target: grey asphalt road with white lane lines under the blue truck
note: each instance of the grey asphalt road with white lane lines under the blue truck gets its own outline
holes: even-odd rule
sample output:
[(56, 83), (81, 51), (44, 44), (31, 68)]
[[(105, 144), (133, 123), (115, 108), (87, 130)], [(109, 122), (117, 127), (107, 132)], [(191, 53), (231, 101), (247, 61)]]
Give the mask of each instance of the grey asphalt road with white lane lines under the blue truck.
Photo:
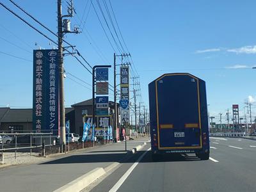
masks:
[(91, 186), (91, 191), (256, 191), (256, 141), (211, 138), (207, 161), (189, 154), (153, 162), (148, 148)]

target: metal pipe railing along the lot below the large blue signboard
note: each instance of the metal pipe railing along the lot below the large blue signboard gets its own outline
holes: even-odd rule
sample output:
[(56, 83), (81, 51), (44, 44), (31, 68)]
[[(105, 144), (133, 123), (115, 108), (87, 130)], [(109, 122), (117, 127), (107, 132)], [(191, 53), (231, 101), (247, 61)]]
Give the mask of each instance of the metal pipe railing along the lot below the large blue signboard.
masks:
[[(15, 159), (17, 159), (17, 151), (18, 150), (30, 149), (30, 156), (31, 156), (33, 148), (42, 148), (42, 156), (45, 156), (45, 147), (51, 147), (52, 145), (56, 145), (56, 138), (54, 138), (54, 136), (52, 136), (52, 132), (48, 132), (48, 133), (35, 133), (35, 132), (8, 133), (8, 132), (3, 132), (3, 133), (0, 133), (0, 136), (2, 136), (2, 140), (0, 143), (0, 145), (1, 145), (1, 148), (0, 148), (1, 159), (0, 160), (1, 160), (2, 164), (4, 164), (4, 152), (14, 150), (14, 152), (15, 152), (14, 157), (15, 157)], [(9, 138), (9, 140), (12, 140), (12, 142), (4, 143), (4, 138), (6, 138), (4, 136), (11, 136)], [(18, 136), (27, 136), (27, 137), (30, 136), (30, 138), (29, 138), (30, 143), (24, 142), (24, 141), (28, 141), (28, 138), (25, 138), (25, 139), (22, 138), (24, 140), (22, 142), (17, 141)], [(6, 146), (8, 148), (4, 148)], [(19, 146), (22, 146), (22, 147), (19, 147)]]

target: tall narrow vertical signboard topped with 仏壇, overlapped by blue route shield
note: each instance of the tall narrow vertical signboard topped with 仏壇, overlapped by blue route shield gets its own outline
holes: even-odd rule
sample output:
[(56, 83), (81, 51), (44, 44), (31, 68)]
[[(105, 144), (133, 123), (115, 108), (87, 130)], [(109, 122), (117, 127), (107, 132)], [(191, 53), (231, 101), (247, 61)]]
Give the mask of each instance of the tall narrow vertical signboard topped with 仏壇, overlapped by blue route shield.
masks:
[(129, 123), (129, 67), (120, 67), (120, 107), (121, 107), (121, 123)]

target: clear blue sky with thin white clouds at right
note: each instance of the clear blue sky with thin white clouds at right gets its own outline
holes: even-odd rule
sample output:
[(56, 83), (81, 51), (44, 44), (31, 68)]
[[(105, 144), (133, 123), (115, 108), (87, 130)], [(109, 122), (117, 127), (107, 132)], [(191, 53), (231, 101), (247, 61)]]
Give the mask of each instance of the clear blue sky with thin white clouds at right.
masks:
[[(206, 82), (209, 113), (216, 116), (216, 121), (219, 113), (223, 113), (225, 120), (225, 113), (232, 109), (232, 104), (239, 104), (240, 113), (244, 115), (247, 111), (244, 102), (255, 102), (256, 69), (252, 67), (256, 66), (256, 1), (110, 1), (132, 56), (131, 75), (140, 76), (140, 86), (136, 88), (141, 88), (138, 99), (142, 105), (148, 107), (148, 83), (172, 72), (188, 72)], [(10, 1), (1, 3), (56, 41), (56, 36), (29, 19)], [(15, 3), (56, 33), (56, 1), (15, 0)], [(92, 3), (115, 51), (100, 26)], [(113, 54), (118, 53), (118, 49), (97, 3), (96, 0), (74, 0), (76, 13), (70, 20), (72, 28), (79, 27), (81, 33), (67, 34), (65, 40), (76, 45), (90, 65), (113, 66)], [(108, 19), (104, 1), (99, 0), (99, 3)], [(109, 6), (109, 0), (106, 3)], [(64, 13), (67, 13), (65, 1)], [(49, 44), (49, 40), (3, 6), (0, 6), (0, 15), (0, 107), (31, 108), (33, 49), (52, 49), (54, 44)], [(115, 28), (117, 30), (116, 25)], [(118, 59), (117, 63), (120, 62)], [(90, 99), (91, 74), (72, 56), (65, 56), (64, 65), (67, 72), (65, 106)], [(113, 84), (113, 68), (109, 70), (109, 79)], [(113, 100), (113, 93), (109, 97)], [(253, 116), (255, 109), (252, 105)]]

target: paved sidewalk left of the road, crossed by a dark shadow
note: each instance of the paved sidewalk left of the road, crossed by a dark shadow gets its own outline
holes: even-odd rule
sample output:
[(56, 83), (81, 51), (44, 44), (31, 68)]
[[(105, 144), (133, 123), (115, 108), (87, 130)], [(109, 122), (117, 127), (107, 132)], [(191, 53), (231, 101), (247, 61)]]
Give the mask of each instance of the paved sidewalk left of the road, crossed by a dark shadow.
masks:
[[(127, 141), (127, 150), (148, 141)], [(0, 169), (0, 191), (54, 191), (95, 168), (122, 163), (127, 156), (125, 142), (86, 148), (47, 160), (44, 163)]]

